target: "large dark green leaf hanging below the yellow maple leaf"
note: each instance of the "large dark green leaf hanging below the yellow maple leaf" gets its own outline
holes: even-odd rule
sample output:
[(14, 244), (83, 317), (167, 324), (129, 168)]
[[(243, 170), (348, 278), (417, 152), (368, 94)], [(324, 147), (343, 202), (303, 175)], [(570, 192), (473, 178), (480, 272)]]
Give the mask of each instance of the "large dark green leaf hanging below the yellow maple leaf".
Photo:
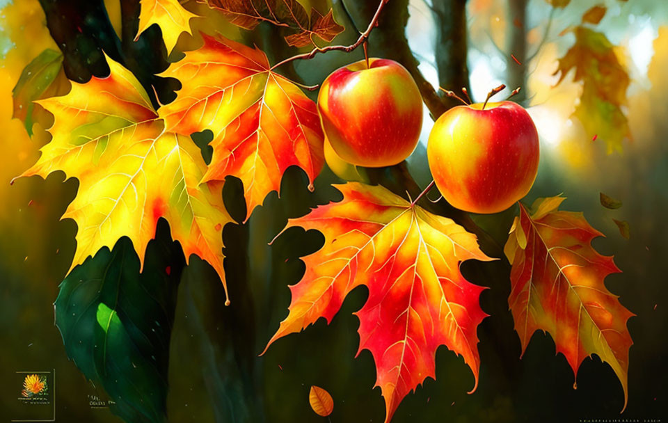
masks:
[(113, 413), (132, 423), (166, 422), (169, 342), (184, 257), (166, 225), (158, 232), (141, 273), (124, 237), (112, 251), (102, 248), (77, 266), (55, 303), (67, 356), (116, 401)]

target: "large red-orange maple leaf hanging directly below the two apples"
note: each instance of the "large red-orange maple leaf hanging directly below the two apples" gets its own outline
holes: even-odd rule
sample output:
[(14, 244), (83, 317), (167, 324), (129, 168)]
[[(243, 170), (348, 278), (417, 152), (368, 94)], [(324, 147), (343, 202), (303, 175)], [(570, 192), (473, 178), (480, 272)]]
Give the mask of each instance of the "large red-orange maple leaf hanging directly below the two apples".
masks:
[(356, 313), (359, 351), (368, 349), (374, 356), (385, 422), (408, 392), (427, 376), (436, 377), (440, 345), (463, 356), (477, 386), (476, 331), (486, 317), (479, 305), (484, 287), (464, 279), (459, 264), (492, 259), (475, 235), (382, 186), (349, 182), (336, 188), (343, 193), (341, 202), (317, 207), (286, 227), (317, 229), (325, 244), (303, 259), (306, 273), (290, 287), (289, 314), (267, 348), (321, 317), (329, 323), (347, 294), (366, 285), (369, 298)]

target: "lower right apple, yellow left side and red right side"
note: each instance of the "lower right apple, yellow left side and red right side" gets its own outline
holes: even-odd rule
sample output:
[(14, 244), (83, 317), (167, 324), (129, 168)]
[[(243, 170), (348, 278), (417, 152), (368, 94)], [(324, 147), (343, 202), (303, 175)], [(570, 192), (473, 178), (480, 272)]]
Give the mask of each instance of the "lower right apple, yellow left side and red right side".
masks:
[(523, 198), (539, 155), (536, 125), (514, 102), (456, 106), (436, 120), (427, 145), (443, 198), (472, 213), (498, 213)]

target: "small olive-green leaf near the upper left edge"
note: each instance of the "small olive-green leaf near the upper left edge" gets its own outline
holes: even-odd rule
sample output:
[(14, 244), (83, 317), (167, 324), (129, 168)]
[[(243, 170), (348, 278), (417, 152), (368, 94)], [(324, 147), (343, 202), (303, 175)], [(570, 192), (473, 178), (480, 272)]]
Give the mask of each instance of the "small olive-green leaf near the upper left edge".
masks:
[(63, 54), (46, 49), (23, 70), (13, 90), (13, 118), (23, 120), (26, 131), (33, 135), (33, 123), (38, 113), (45, 113), (35, 100), (61, 94), (67, 85), (63, 71)]

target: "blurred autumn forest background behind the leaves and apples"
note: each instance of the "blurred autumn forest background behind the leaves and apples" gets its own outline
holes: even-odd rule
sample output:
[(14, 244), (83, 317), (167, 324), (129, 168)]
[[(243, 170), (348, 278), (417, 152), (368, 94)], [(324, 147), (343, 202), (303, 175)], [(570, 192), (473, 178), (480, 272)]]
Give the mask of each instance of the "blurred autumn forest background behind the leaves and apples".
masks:
[[(141, 61), (152, 60), (138, 54), (150, 47), (149, 41), (148, 47), (140, 45), (134, 53), (132, 42), (127, 42), (125, 31), (132, 33), (130, 38), (136, 33), (138, 1), (41, 3), (52, 13), (53, 24), (58, 19), (81, 18), (80, 31), (88, 36), (88, 45), (81, 41), (77, 51), (70, 51), (87, 63), (67, 69), (70, 79), (76, 75), (79, 81), (86, 81), (91, 73), (104, 75), (104, 65), (98, 63), (103, 60), (99, 47), (113, 55), (105, 43), (116, 45), (126, 63), (136, 61), (136, 68)], [(376, 1), (333, 3), (337, 22), (347, 28), (334, 40), (337, 44), (355, 40), (355, 26), (365, 28), (377, 5)], [(400, 9), (403, 5), (406, 10), (406, 3), (408, 43), (404, 40), (402, 45), (397, 40), (403, 35)], [(469, 86), (477, 101), (500, 83), (523, 87), (518, 101), (529, 107), (541, 136), (539, 177), (527, 204), (537, 197), (563, 193), (568, 200), (562, 209), (584, 212), (594, 228), (607, 235), (594, 246), (605, 255), (614, 254), (623, 271), (608, 277), (606, 285), (637, 314), (628, 323), (635, 342), (630, 349), (628, 408), (619, 415), (621, 385), (598, 358), (582, 364), (578, 389), (573, 390), (573, 373), (563, 356), (555, 357), (549, 336), (536, 333), (520, 360), (520, 342), (507, 310), (509, 264), (503, 259), (476, 269), (463, 266), (469, 280), (491, 287), (482, 294), (482, 308), (491, 317), (478, 330), (482, 365), (477, 391), (466, 394), (473, 384), (470, 370), (461, 358), (441, 348), (436, 381), (429, 379), (408, 395), (393, 422), (579, 422), (615, 417), (642, 422), (668, 417), (668, 226), (663, 221), (668, 211), (668, 2), (578, 0), (555, 7), (558, 3), (392, 0), (390, 4), (397, 6), (388, 6), (390, 17), (381, 20), (372, 33), (369, 54), (397, 58), (404, 65), (412, 63), (417, 66), (414, 74), (419, 70), (433, 86), (451, 90)], [(605, 5), (607, 12), (601, 22), (589, 27), (610, 40), (614, 56), (630, 77), (621, 110), (628, 118), (631, 137), (625, 137), (619, 127), (600, 129), (607, 138), (619, 137), (612, 151), (605, 140), (592, 141), (588, 122), (583, 125), (572, 116), (582, 101), (582, 81), (571, 71), (559, 83), (561, 75), (555, 74), (558, 59), (575, 42), (575, 32), (568, 29), (580, 25), (582, 15), (598, 4)], [(72, 221), (59, 219), (74, 198), (77, 181), (63, 183), (63, 174), (57, 173), (46, 180), (32, 177), (9, 184), (35, 162), (39, 147), (47, 141), (39, 124), (30, 138), (23, 123), (12, 119), (12, 89), (33, 58), (46, 48), (59, 46), (49, 35), (38, 0), (3, 0), (0, 6), (0, 374), (6, 381), (17, 371), (55, 368), (57, 422), (119, 422), (108, 409), (90, 408), (88, 396), (104, 398), (104, 390), (87, 382), (67, 359), (61, 334), (53, 324), (53, 303), (74, 253), (76, 232)], [(202, 4), (189, 1), (184, 6), (210, 17), (193, 19), (195, 30), (213, 33), (215, 29), (230, 38), (255, 42), (273, 62), (292, 55), (292, 50), (279, 45), (283, 40), (272, 36), (270, 26), (262, 24), (256, 31), (259, 35), (250, 38)], [(133, 22), (134, 29), (129, 28)], [(72, 26), (67, 21), (60, 24)], [(71, 35), (65, 32), (58, 36)], [(159, 39), (156, 28), (147, 33), (147, 40)], [(109, 41), (115, 37), (122, 42)], [(193, 49), (198, 43), (198, 35), (183, 34), (177, 50)], [(154, 63), (164, 64), (164, 69), (164, 46), (156, 46), (151, 51), (161, 57), (153, 58)], [(419, 66), (406, 57), (411, 50)], [(169, 59), (177, 60), (178, 55), (173, 53)], [(351, 54), (331, 52), (296, 63), (287, 71), (305, 83), (320, 83), (337, 67), (362, 57), (361, 49)], [(619, 84), (623, 88), (623, 81)], [(431, 180), (424, 150), (431, 125), (427, 113), (421, 143), (408, 160), (408, 169), (421, 186)], [(207, 264), (193, 258), (183, 270), (168, 351), (170, 422), (324, 422), (308, 405), (310, 385), (326, 388), (333, 395), (332, 422), (371, 422), (383, 417), (383, 399), (379, 390), (372, 390), (371, 355), (365, 351), (353, 358), (358, 320), (351, 312), (363, 305), (365, 288), (347, 298), (331, 325), (319, 321), (257, 356), (287, 314), (287, 285), (296, 283), (303, 272), (299, 257), (317, 250), (322, 242), (318, 234), (299, 230), (287, 232), (273, 246), (269, 241), (288, 217), (301, 216), (308, 207), (338, 198), (330, 187), (338, 179), (330, 171), (323, 171), (315, 193), (306, 190), (305, 179), (301, 171), (289, 170), (280, 199), (271, 193), (246, 224), (225, 227), (225, 267), (233, 307), (223, 307), (223, 287)], [(600, 191), (622, 200), (623, 207), (601, 207)], [(230, 209), (239, 221), (244, 217), (241, 192), (238, 182), (225, 185), (225, 200), (237, 205)], [(511, 209), (495, 217), (495, 222), (501, 219), (507, 225), (487, 228), (500, 245), (515, 212)], [(630, 239), (621, 237), (613, 218), (628, 221)], [(491, 221), (486, 216), (475, 219), (483, 227)], [(166, 228), (161, 233), (166, 237)], [(11, 383), (0, 385), (3, 419), (19, 418), (14, 416), (19, 412), (16, 397), (20, 388)]]

